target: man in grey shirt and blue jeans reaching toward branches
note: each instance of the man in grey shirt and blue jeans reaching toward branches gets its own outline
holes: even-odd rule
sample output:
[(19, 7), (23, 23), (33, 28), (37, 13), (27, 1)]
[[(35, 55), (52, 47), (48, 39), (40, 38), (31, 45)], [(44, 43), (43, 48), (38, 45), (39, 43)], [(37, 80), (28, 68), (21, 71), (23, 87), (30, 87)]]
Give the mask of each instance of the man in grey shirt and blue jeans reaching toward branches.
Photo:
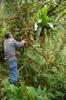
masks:
[(10, 83), (16, 84), (18, 81), (18, 65), (15, 49), (24, 46), (26, 40), (23, 39), (21, 42), (16, 41), (11, 32), (5, 33), (4, 37), (4, 59), (9, 68), (8, 80)]

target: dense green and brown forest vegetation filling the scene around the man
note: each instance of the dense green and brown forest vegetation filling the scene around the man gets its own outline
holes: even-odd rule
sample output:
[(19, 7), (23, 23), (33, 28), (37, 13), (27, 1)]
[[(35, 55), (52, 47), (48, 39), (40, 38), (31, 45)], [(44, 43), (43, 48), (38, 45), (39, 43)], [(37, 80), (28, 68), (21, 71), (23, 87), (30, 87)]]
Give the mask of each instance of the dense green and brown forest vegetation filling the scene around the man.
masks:
[[(21, 85), (0, 78), (0, 100), (65, 100), (66, 1), (1, 0), (0, 5), (0, 62), (5, 32), (27, 39), (16, 52)], [(5, 64), (0, 69), (8, 73)]]

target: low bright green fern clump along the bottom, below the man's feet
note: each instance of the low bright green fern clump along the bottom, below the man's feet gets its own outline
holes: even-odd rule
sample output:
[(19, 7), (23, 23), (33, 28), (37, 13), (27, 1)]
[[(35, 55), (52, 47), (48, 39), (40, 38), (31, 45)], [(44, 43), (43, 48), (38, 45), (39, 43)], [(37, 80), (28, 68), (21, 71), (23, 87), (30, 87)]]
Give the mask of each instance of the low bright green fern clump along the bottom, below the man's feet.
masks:
[(44, 87), (41, 89), (39, 86), (35, 89), (32, 86), (25, 86), (22, 84), (20, 87), (14, 85), (6, 85), (3, 92), (7, 94), (7, 100), (51, 100), (54, 95), (47, 91)]

